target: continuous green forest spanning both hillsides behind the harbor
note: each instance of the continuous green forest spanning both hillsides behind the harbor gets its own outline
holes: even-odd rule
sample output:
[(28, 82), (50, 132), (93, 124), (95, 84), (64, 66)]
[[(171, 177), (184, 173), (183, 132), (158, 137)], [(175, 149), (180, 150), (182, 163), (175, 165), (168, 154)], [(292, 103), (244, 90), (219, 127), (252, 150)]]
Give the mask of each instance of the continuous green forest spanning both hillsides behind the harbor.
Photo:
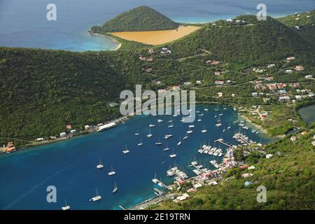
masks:
[[(314, 71), (314, 44), (300, 33), (272, 18), (257, 22), (245, 15), (237, 19), (246, 22), (237, 25), (221, 20), (216, 26), (205, 25), (167, 44), (172, 55), (161, 55), (161, 46), (149, 54), (152, 46), (123, 39), (118, 39), (123, 46), (115, 52), (0, 48), (0, 137), (34, 140), (59, 134), (67, 123), (82, 130), (85, 124), (110, 120), (119, 113), (108, 106), (109, 102), (118, 99), (120, 90), (132, 90), (136, 83), (158, 90), (202, 80), (202, 85), (196, 87), (197, 101), (251, 106), (266, 103), (251, 97), (254, 89), (248, 84), (257, 76), (247, 68), (273, 62), (286, 69), (293, 64), (283, 59), (294, 55), (296, 63), (310, 64), (306, 72)], [(140, 61), (141, 55), (153, 56), (154, 61)], [(205, 64), (207, 59), (221, 60), (221, 64), (209, 66)], [(152, 68), (150, 73), (144, 71), (148, 67)], [(214, 76), (218, 70), (225, 72)], [(274, 75), (279, 82), (300, 81), (303, 77), (303, 73)], [(157, 80), (161, 84), (155, 84)], [(214, 80), (232, 83), (220, 87), (214, 85)], [(315, 91), (315, 85), (307, 87)], [(217, 92), (223, 92), (223, 97), (218, 98)], [(237, 96), (233, 98), (231, 93)], [(270, 103), (279, 104), (277, 100)], [(291, 128), (281, 125), (272, 133)]]

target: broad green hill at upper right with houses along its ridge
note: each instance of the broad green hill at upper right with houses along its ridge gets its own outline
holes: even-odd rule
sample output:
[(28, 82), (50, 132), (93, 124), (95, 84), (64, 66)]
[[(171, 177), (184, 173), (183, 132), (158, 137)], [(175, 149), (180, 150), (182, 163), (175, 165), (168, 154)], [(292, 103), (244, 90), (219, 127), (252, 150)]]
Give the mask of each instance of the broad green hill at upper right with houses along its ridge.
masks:
[(270, 17), (258, 21), (253, 15), (243, 15), (235, 20), (245, 22), (237, 24), (220, 20), (167, 46), (176, 58), (208, 50), (217, 59), (225, 61), (272, 62), (296, 55), (314, 64), (314, 43), (295, 29)]

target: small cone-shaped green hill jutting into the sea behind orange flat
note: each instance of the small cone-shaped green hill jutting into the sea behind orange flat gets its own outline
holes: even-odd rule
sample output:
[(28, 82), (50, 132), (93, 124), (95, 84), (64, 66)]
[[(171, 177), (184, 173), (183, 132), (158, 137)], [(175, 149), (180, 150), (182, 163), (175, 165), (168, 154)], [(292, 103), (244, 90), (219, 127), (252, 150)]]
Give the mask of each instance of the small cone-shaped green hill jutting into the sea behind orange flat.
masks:
[(153, 8), (140, 6), (117, 15), (101, 27), (92, 27), (91, 31), (104, 34), (116, 31), (153, 31), (176, 29), (178, 27), (178, 23), (170, 20)]

